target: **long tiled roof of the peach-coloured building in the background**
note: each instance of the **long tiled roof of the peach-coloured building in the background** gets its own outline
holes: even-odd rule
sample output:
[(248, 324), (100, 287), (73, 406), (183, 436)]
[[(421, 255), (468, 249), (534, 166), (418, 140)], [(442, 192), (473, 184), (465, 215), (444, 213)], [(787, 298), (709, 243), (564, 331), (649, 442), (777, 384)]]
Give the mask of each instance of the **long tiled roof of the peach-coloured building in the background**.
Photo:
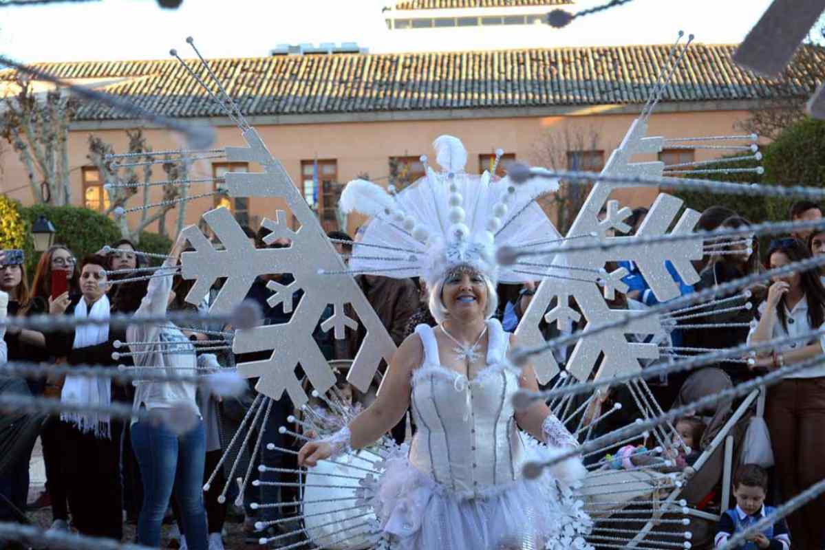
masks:
[[(825, 49), (775, 87), (735, 65), (734, 45), (691, 45), (662, 101), (808, 96), (825, 73)], [(643, 103), (669, 45), (514, 49), (455, 53), (281, 55), (213, 59), (246, 115), (587, 106)], [(194, 62), (191, 62), (194, 63)], [(174, 59), (36, 63), (59, 78), (111, 80), (107, 92), (176, 117), (222, 115)], [(0, 71), (0, 79), (12, 78)], [(78, 120), (127, 118), (87, 102)]]

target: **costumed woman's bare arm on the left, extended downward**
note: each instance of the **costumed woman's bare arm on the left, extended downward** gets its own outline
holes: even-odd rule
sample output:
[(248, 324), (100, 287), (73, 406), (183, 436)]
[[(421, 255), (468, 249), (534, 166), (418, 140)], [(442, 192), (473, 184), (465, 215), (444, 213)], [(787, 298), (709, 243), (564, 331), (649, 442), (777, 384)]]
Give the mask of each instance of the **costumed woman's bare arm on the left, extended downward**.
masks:
[[(410, 404), (410, 378), (413, 370), (421, 364), (423, 353), (421, 338), (417, 334), (408, 336), (390, 360), (375, 402), (333, 436), (332, 440), (337, 444), (348, 444), (352, 449), (361, 449), (392, 430), (407, 412)], [(347, 438), (348, 441), (342, 438)], [(301, 448), (298, 463), (301, 466), (315, 466), (318, 460), (330, 457), (332, 451), (329, 442), (311, 441)]]

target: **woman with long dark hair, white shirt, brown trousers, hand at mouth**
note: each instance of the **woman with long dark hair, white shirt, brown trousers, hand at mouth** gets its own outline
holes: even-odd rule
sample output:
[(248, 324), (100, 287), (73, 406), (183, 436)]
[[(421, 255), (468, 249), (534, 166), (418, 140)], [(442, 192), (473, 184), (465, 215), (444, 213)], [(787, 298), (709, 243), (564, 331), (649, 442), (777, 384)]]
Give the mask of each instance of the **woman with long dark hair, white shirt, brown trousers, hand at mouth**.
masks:
[[(771, 269), (811, 257), (804, 242), (784, 238), (771, 242)], [(761, 318), (748, 335), (751, 343), (786, 336), (804, 336), (825, 321), (825, 288), (816, 270), (794, 271), (776, 277), (767, 299), (759, 308)], [(757, 360), (756, 367), (778, 369), (823, 354), (825, 337), (774, 346)], [(771, 432), (781, 500), (789, 501), (814, 483), (825, 479), (825, 365), (790, 374), (768, 390), (765, 420)], [(790, 515), (794, 547), (823, 548), (822, 519), (825, 496)]]

